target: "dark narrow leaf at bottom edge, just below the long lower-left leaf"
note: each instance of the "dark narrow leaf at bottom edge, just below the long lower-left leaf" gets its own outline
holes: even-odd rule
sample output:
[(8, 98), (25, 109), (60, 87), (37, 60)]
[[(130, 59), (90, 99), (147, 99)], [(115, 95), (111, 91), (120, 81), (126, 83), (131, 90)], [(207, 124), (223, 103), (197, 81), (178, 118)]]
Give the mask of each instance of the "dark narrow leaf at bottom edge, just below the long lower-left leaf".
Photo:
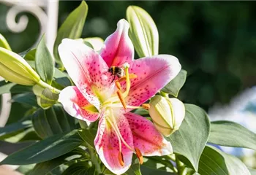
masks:
[(64, 163), (70, 163), (75, 160), (80, 160), (80, 158), (82, 158), (83, 155), (85, 155), (85, 150), (78, 147), (77, 149), (74, 149), (65, 155), (61, 155), (59, 158), (48, 160), (42, 163), (37, 163), (37, 165), (31, 171), (30, 175), (48, 174), (54, 168), (57, 168)]

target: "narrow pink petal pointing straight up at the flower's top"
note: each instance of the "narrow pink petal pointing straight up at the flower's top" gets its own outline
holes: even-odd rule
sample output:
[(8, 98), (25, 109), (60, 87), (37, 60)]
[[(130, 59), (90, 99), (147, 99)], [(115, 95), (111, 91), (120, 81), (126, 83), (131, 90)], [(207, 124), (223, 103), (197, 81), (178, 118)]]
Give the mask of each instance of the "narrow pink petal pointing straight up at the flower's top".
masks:
[(128, 36), (129, 23), (127, 20), (119, 20), (116, 31), (108, 36), (100, 55), (108, 66), (121, 66), (129, 63), (134, 57), (134, 47)]

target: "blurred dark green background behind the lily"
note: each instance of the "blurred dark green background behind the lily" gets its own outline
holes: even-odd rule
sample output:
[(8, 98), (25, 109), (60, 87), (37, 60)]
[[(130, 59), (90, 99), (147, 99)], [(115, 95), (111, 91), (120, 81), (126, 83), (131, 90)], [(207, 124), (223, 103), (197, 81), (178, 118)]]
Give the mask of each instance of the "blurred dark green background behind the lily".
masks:
[[(226, 104), (233, 96), (256, 84), (256, 1), (214, 0), (87, 0), (89, 14), (83, 37), (105, 39), (125, 18), (129, 5), (151, 15), (159, 30), (159, 53), (175, 55), (188, 71), (179, 98), (208, 109)], [(59, 26), (80, 0), (59, 2)], [(15, 52), (31, 47), (39, 23), (29, 14), (29, 26), (11, 33), (5, 18), (10, 7), (0, 4), (0, 33)], [(18, 15), (18, 18), (23, 13)], [(18, 20), (18, 18), (16, 20)]]

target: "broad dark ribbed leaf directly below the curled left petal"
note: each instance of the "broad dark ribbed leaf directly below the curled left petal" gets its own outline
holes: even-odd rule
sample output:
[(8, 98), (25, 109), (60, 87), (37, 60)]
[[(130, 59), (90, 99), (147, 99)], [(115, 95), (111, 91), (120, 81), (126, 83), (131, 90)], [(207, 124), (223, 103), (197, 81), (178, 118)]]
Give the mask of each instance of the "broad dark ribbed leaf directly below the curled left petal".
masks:
[(38, 136), (42, 139), (75, 129), (75, 118), (56, 104), (50, 109), (38, 109), (32, 117), (32, 123)]

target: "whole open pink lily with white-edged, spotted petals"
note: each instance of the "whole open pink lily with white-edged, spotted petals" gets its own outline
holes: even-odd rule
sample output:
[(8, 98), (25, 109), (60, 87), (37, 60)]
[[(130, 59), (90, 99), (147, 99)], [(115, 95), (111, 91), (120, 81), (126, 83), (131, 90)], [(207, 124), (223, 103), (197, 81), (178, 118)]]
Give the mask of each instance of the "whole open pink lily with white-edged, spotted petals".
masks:
[[(133, 60), (128, 29), (129, 23), (119, 20), (100, 53), (72, 39), (63, 39), (59, 45), (61, 60), (76, 85), (62, 90), (59, 101), (73, 117), (89, 122), (99, 119), (94, 145), (102, 163), (114, 174), (128, 170), (133, 153), (142, 163), (143, 155), (173, 152), (151, 121), (130, 111), (148, 108), (143, 103), (181, 70), (171, 55)], [(113, 81), (110, 68), (123, 70), (124, 77)]]

